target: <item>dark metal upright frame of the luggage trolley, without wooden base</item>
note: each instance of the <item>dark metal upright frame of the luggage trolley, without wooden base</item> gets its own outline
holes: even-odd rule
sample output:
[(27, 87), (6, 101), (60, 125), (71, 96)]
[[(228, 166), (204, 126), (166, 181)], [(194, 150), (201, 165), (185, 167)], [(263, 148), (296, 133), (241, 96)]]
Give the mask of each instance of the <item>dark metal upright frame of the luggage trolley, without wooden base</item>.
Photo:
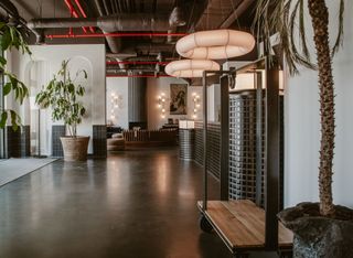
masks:
[[(270, 63), (271, 62), (271, 63)], [(237, 73), (252, 72), (255, 75), (257, 83), (257, 130), (256, 130), (256, 144), (257, 158), (261, 157), (261, 128), (263, 120), (263, 87), (265, 85), (265, 164), (259, 163), (256, 168), (256, 195), (259, 200), (261, 193), (261, 165), (265, 165), (265, 249), (278, 249), (278, 219), (277, 213), (279, 212), (279, 66), (275, 57), (269, 61), (265, 57), (258, 60), (250, 65), (246, 65), (237, 71)], [(265, 73), (265, 82), (261, 82), (259, 71)], [(228, 76), (235, 75), (234, 71), (205, 71), (203, 73), (203, 101), (204, 101), (204, 196), (203, 196), (203, 211), (207, 209), (207, 74), (216, 74), (221, 80), (221, 200), (228, 200), (228, 149), (229, 149), (229, 107), (228, 107)], [(260, 161), (260, 159), (259, 159)]]

